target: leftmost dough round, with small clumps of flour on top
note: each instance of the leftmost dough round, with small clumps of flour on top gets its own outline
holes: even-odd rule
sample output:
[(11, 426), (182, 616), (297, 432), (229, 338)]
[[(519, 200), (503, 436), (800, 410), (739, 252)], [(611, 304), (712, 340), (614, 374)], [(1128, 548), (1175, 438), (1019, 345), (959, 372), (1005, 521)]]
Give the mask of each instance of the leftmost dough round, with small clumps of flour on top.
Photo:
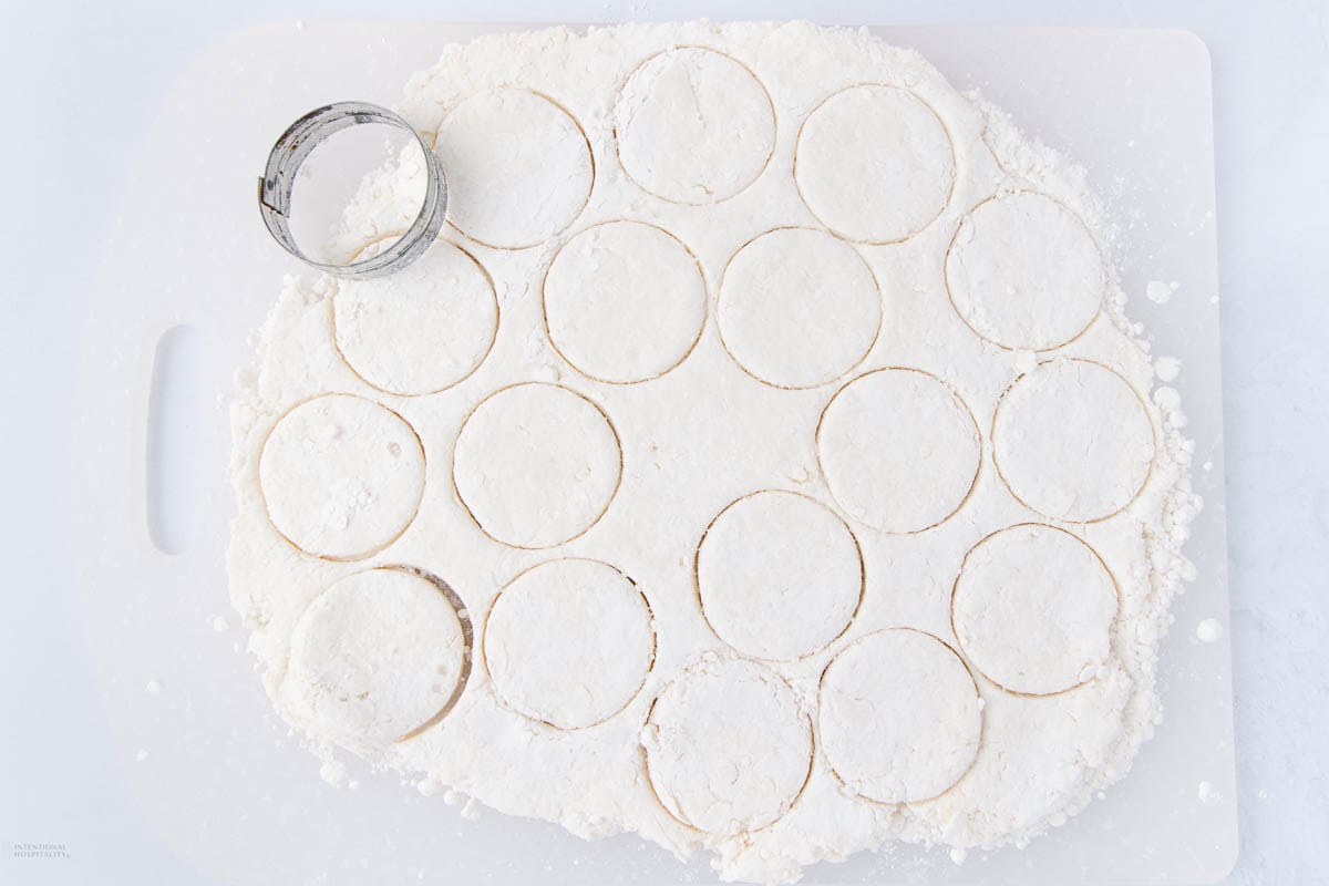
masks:
[(424, 449), (397, 413), (326, 395), (286, 413), (259, 456), (268, 517), (300, 550), (360, 559), (391, 545), (424, 495)]

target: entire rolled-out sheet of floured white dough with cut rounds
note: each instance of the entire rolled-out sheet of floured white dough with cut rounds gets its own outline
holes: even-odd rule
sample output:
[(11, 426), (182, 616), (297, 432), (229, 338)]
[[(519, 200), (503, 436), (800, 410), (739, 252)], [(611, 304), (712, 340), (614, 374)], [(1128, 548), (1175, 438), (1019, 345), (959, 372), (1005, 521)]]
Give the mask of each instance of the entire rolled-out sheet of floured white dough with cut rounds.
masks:
[(1082, 169), (807, 23), (488, 36), (397, 110), (443, 242), (288, 278), (231, 410), (233, 603), (330, 784), (784, 883), (1128, 773), (1200, 501)]

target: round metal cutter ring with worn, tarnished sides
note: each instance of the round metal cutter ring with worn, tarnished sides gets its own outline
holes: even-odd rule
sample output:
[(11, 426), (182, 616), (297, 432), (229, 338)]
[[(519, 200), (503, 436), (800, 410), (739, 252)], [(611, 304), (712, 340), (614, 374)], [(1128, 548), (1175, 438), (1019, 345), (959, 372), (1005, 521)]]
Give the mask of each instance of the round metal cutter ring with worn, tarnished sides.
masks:
[[(300, 250), (291, 232), (291, 198), (300, 165), (324, 139), (360, 124), (383, 124), (404, 129), (415, 138), (424, 155), (425, 194), (411, 227), (397, 240), (375, 256), (350, 264), (318, 262)], [(267, 166), (258, 179), (258, 203), (263, 223), (282, 248), (310, 267), (342, 278), (369, 279), (391, 274), (420, 258), (443, 230), (448, 211), (448, 185), (439, 158), (424, 138), (405, 120), (387, 108), (365, 101), (339, 101), (315, 108), (287, 126), (267, 155)]]

